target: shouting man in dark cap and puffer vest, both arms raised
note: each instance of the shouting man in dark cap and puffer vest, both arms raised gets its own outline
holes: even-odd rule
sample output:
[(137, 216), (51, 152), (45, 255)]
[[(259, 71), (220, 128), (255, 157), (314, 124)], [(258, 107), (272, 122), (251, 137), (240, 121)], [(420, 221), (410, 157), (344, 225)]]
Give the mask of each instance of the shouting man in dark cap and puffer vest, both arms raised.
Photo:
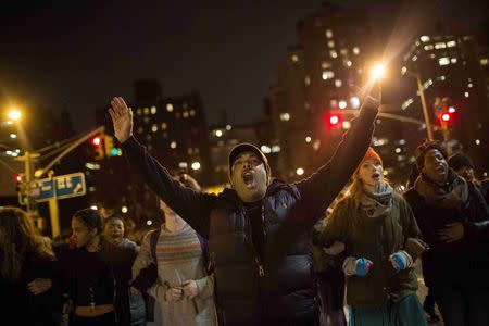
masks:
[[(378, 101), (367, 100), (334, 156), (296, 184), (272, 178), (266, 156), (241, 143), (229, 153), (231, 188), (218, 196), (175, 181), (133, 137), (122, 98), (109, 110), (131, 168), (209, 240), (215, 298), (224, 325), (318, 325), (311, 230), (365, 155)], [(164, 281), (164, 280), (160, 280)]]

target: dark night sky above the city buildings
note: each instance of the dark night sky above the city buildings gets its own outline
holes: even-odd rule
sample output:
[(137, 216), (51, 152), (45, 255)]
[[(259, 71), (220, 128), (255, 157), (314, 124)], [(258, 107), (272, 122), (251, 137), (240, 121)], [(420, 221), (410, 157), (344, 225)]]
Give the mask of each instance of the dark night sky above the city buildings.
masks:
[[(68, 110), (83, 131), (112, 96), (133, 100), (136, 78), (159, 78), (163, 96), (200, 91), (210, 124), (223, 110), (234, 124), (254, 121), (296, 23), (323, 1), (22, 2), (0, 11), (0, 109)], [(379, 38), (400, 23), (397, 1), (329, 2), (368, 5)], [(486, 1), (430, 2), (464, 28), (487, 12)]]

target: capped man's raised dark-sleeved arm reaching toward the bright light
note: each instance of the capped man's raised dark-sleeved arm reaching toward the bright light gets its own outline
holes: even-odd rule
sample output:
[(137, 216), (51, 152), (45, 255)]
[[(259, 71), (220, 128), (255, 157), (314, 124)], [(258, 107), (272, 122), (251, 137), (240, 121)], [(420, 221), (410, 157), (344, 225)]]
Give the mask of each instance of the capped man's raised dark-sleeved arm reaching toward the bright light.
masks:
[(377, 111), (376, 106), (362, 108), (329, 162), (297, 184), (309, 210), (308, 221), (302, 221), (305, 228), (321, 218), (321, 212), (333, 202), (359, 166), (371, 145)]

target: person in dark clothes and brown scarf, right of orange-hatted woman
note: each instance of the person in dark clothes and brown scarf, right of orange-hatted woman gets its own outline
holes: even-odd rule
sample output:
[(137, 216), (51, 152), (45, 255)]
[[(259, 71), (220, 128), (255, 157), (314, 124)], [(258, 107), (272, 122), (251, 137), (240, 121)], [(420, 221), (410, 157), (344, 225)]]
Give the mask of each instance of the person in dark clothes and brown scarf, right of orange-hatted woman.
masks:
[(444, 149), (426, 141), (416, 150), (421, 172), (405, 192), (423, 239), (423, 276), (446, 325), (488, 325), (487, 205), (448, 165)]

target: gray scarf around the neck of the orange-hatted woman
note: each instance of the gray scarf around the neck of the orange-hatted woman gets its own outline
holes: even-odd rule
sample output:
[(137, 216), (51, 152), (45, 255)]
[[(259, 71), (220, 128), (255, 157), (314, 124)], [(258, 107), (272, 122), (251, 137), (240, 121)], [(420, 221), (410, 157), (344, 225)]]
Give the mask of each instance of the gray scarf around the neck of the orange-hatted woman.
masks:
[(392, 187), (381, 183), (378, 192), (363, 190), (360, 197), (360, 208), (368, 217), (378, 217), (387, 214), (392, 209)]

